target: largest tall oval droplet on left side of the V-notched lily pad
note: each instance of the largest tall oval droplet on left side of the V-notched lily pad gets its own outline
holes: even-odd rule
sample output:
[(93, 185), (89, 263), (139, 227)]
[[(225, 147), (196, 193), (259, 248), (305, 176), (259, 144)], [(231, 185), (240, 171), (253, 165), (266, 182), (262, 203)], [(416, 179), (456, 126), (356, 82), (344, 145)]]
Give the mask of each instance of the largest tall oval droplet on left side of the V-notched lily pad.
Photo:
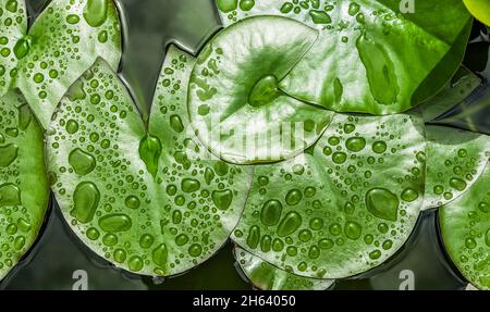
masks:
[(100, 192), (97, 186), (90, 182), (78, 184), (73, 194), (74, 208), (70, 212), (78, 222), (89, 223), (97, 211), (100, 201)]

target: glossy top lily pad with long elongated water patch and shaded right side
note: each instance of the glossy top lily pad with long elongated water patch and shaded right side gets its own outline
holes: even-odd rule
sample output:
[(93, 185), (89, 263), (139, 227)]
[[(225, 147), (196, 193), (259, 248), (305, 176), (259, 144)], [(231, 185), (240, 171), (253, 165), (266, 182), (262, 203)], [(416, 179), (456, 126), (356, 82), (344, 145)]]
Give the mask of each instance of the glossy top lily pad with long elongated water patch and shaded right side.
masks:
[(339, 112), (404, 112), (433, 96), (460, 66), (471, 24), (461, 0), (420, 1), (407, 13), (391, 0), (217, 2), (225, 26), (281, 15), (318, 29), (280, 88)]

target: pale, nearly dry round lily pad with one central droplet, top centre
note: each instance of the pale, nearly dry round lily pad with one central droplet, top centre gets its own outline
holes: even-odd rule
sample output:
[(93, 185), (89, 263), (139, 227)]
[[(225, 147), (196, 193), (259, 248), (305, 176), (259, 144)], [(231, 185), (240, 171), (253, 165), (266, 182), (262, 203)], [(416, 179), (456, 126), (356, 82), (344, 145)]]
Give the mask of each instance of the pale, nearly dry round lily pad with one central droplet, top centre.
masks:
[(317, 35), (290, 18), (260, 16), (208, 42), (193, 71), (188, 110), (212, 153), (238, 164), (275, 162), (297, 155), (321, 136), (333, 113), (278, 88)]

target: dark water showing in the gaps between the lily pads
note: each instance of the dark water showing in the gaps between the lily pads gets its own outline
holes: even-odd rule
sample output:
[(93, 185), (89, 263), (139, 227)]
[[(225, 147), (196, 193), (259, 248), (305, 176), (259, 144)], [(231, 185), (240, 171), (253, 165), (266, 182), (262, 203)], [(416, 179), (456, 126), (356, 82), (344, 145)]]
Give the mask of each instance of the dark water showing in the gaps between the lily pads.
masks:
[[(28, 0), (30, 22), (48, 0)], [(121, 76), (147, 115), (164, 59), (175, 42), (196, 53), (220, 28), (213, 0), (119, 0), (124, 23)], [(480, 52), (480, 51), (479, 51)], [(481, 63), (478, 64), (481, 67)], [(480, 70), (485, 72), (485, 65)], [(463, 124), (463, 126), (462, 126)], [(464, 123), (457, 126), (464, 127)], [(405, 248), (383, 266), (340, 280), (334, 289), (464, 289), (441, 245), (437, 212), (420, 216)], [(0, 284), (2, 289), (72, 289), (87, 279), (89, 289), (250, 289), (234, 266), (229, 244), (213, 259), (180, 277), (154, 279), (114, 269), (72, 234), (52, 204), (39, 241)]]

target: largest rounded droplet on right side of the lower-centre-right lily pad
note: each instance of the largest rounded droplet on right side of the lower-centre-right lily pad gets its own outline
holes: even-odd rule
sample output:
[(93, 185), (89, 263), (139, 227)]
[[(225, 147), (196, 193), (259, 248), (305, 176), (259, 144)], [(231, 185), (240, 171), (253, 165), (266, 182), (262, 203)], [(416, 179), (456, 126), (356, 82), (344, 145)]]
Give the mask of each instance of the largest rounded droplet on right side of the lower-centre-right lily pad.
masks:
[(366, 195), (366, 205), (376, 217), (396, 222), (400, 201), (396, 195), (384, 188), (373, 188)]

